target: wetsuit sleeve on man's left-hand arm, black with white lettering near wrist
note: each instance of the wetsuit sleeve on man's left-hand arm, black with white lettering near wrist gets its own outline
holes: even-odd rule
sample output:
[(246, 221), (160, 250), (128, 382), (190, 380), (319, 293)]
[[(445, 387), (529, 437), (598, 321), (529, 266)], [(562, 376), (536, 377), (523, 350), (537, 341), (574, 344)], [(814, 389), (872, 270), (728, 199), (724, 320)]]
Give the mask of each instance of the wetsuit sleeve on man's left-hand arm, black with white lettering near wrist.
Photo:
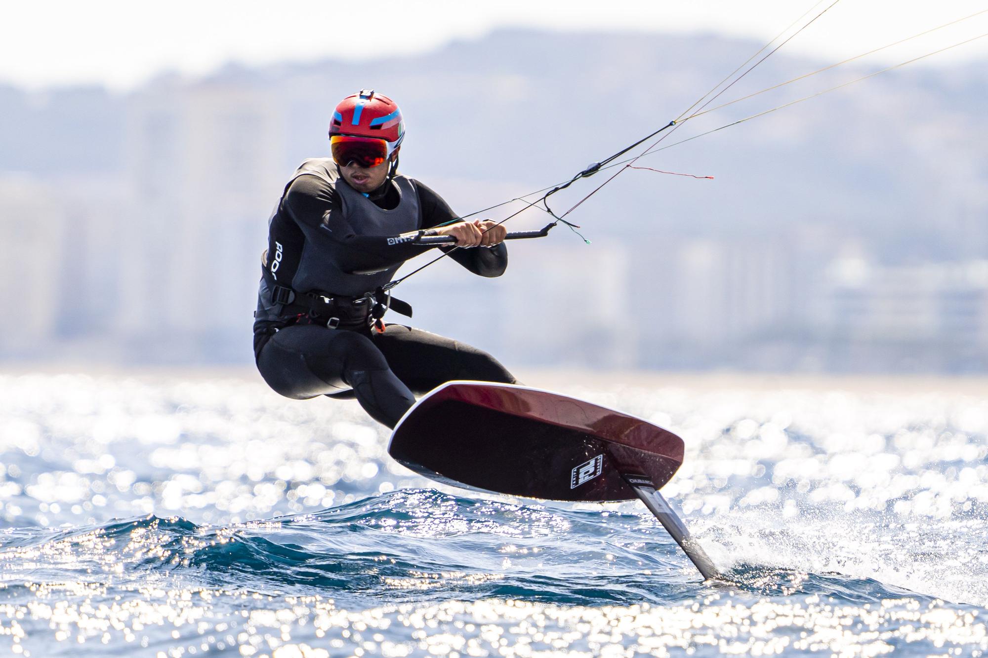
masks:
[(345, 272), (385, 269), (432, 249), (396, 235), (358, 235), (343, 217), (332, 187), (315, 176), (299, 176), (288, 188), (285, 208), (307, 240), (325, 245)]

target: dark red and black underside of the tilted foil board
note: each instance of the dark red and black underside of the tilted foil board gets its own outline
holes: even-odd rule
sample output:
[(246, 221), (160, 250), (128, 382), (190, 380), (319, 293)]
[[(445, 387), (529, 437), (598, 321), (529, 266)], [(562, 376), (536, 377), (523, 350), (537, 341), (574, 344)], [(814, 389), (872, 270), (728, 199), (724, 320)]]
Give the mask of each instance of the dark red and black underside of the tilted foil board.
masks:
[(422, 475), (479, 491), (562, 501), (636, 499), (624, 476), (658, 489), (683, 440), (613, 409), (510, 384), (456, 381), (423, 397), (388, 452)]

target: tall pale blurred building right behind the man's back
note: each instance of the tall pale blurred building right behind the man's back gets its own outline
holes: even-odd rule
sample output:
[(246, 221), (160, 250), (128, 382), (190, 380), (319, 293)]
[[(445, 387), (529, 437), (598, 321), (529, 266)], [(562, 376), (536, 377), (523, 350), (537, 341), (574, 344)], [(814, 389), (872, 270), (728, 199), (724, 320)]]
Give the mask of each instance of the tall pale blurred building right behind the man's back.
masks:
[(135, 356), (243, 360), (287, 118), (270, 90), (162, 82), (131, 99), (122, 317)]

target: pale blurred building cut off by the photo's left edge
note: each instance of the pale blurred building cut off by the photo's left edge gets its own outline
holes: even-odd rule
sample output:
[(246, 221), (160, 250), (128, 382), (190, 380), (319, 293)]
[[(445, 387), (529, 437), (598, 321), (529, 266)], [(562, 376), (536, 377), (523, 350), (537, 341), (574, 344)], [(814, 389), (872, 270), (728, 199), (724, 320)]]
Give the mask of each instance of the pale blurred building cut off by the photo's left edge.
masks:
[(117, 356), (126, 207), (124, 189), (107, 180), (0, 178), (0, 298), (12, 309), (4, 357)]

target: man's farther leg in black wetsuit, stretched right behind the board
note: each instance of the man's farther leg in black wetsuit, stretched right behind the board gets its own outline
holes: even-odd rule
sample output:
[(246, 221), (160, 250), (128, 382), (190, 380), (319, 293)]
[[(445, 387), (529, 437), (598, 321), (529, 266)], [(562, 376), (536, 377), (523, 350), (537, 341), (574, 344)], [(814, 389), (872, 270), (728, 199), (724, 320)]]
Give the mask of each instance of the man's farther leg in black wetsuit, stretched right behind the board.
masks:
[(452, 338), (389, 324), (383, 334), (374, 334), (372, 340), (391, 371), (419, 394), (453, 379), (518, 383), (492, 356)]

